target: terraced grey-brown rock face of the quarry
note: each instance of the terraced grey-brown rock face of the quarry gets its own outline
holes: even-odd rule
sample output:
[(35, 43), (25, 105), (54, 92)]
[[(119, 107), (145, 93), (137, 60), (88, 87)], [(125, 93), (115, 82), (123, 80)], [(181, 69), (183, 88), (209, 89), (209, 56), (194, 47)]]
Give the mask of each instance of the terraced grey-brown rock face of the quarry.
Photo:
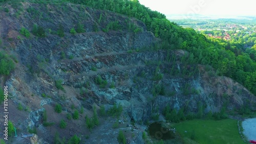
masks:
[[(6, 51), (18, 59), (13, 73), (9, 77), (2, 77), (1, 81), (8, 85), (11, 93), (13, 115), (10, 120), (20, 131), (25, 131), (28, 126), (35, 127), (39, 137), (51, 143), (55, 132), (51, 130), (58, 126), (44, 128), (41, 119), (44, 109), (49, 112), (49, 119), (56, 123), (61, 117), (66, 117), (66, 113), (53, 116), (56, 114), (56, 103), (61, 104), (65, 112), (72, 112), (72, 105), (76, 108), (83, 106), (89, 115), (94, 104), (104, 105), (108, 109), (120, 103), (124, 108), (125, 122), (133, 120), (141, 125), (150, 120), (153, 113), (162, 113), (167, 105), (176, 109), (187, 106), (194, 112), (199, 101), (205, 105), (205, 112), (219, 111), (224, 103), (229, 110), (245, 104), (251, 108), (255, 106), (254, 95), (242, 85), (226, 77), (210, 75), (205, 66), (196, 65), (197, 72), (193, 77), (170, 74), (172, 67), (178, 74), (182, 73), (180, 59), (186, 52), (155, 50), (156, 46), (153, 45), (160, 40), (147, 32), (139, 20), (78, 5), (22, 5), (27, 11), (22, 11), (18, 17), (14, 16), (15, 10), (6, 5), (10, 12), (1, 11), (0, 21), (4, 41), (2, 48), (12, 47)], [(100, 15), (103, 17), (101, 22)], [(94, 31), (94, 26), (103, 29), (115, 20), (119, 21), (122, 30), (107, 33)], [(142, 31), (133, 33), (127, 30), (129, 20)], [(78, 22), (85, 26), (86, 32), (70, 34), (70, 29)], [(21, 36), (22, 39), (17, 39), (20, 28), (31, 30), (34, 23), (53, 32), (58, 31), (61, 24), (66, 36), (60, 38), (47, 32), (45, 38)], [(99, 77), (107, 84), (97, 84)], [(56, 87), (59, 80), (63, 90)], [(156, 92), (155, 95), (153, 89), (157, 86), (163, 86), (165, 94)], [(184, 87), (187, 87), (188, 93), (184, 92)], [(31, 111), (18, 112), (18, 103), (28, 106)], [(83, 117), (70, 122), (72, 128), (63, 130), (65, 133), (61, 135), (70, 136), (69, 132), (79, 129), (83, 122)], [(86, 135), (87, 131), (78, 130), (77, 133)], [(136, 140), (143, 143), (141, 133), (138, 133)], [(110, 140), (106, 138), (102, 142), (108, 143)]]

